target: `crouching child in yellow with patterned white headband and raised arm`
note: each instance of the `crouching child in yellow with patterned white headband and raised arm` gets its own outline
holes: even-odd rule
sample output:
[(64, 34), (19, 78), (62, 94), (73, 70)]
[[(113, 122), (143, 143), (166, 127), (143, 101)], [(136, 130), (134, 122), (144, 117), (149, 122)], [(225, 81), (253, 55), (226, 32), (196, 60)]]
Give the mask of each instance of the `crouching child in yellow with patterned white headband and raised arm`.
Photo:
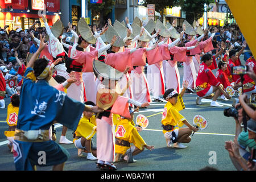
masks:
[[(167, 104), (164, 106), (164, 111), (162, 115), (162, 127), (163, 134), (166, 138), (167, 147), (175, 148), (187, 148), (181, 143), (189, 143), (191, 141), (191, 130), (197, 131), (197, 129), (191, 126), (185, 117), (179, 113), (180, 110), (185, 109), (182, 96), (185, 92), (185, 87), (181, 93), (177, 93), (174, 89), (168, 89), (164, 93), (164, 99)], [(187, 125), (188, 128), (179, 127)], [(171, 144), (174, 143), (172, 146)]]

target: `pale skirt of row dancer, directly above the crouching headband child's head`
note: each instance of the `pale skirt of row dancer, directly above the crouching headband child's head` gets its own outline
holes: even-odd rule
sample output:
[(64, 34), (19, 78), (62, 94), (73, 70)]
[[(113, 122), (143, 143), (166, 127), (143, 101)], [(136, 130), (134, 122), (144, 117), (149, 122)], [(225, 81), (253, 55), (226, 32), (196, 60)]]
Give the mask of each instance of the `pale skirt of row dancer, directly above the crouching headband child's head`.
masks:
[(180, 93), (180, 73), (177, 68), (177, 61), (168, 60), (164, 62), (166, 64), (166, 90), (173, 88)]

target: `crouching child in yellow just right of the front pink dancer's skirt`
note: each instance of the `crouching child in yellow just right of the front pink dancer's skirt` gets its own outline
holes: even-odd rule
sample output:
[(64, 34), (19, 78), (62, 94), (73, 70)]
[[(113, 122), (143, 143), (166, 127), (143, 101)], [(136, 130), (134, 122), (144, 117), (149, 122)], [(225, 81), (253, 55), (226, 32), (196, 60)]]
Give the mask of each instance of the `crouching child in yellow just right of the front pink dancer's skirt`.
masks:
[[(135, 162), (132, 158), (133, 155), (141, 153), (144, 148), (148, 150), (154, 149), (154, 146), (148, 146), (141, 135), (139, 135), (133, 122), (134, 110), (131, 110), (133, 110), (132, 107), (130, 107), (131, 119), (122, 118), (115, 127), (115, 153), (117, 153), (115, 160), (117, 162), (121, 155), (124, 156), (123, 159), (127, 160), (127, 162)], [(131, 146), (131, 143), (134, 146)], [(129, 155), (131, 160), (129, 160)]]

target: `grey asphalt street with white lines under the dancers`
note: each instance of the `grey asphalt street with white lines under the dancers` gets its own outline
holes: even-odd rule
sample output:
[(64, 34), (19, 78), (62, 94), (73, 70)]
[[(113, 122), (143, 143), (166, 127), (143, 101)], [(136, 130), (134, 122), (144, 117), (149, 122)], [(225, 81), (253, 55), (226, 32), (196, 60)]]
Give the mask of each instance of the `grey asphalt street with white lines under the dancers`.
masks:
[[(183, 68), (179, 68), (181, 80), (183, 78)], [(237, 98), (237, 96), (235, 97)], [(135, 113), (145, 115), (149, 120), (149, 125), (141, 131), (141, 136), (149, 145), (155, 146), (152, 151), (144, 150), (141, 154), (134, 156), (136, 163), (115, 163), (120, 171), (198, 171), (206, 166), (217, 168), (221, 171), (233, 171), (232, 162), (229, 159), (228, 151), (224, 144), (227, 140), (234, 139), (235, 121), (233, 118), (225, 117), (223, 111), (232, 106), (233, 98), (230, 101), (222, 101), (224, 107), (211, 107), (210, 100), (202, 100), (202, 105), (196, 105), (196, 94), (185, 93), (183, 97), (186, 109), (180, 113), (192, 123), (196, 114), (203, 115), (208, 121), (205, 130), (197, 131), (185, 149), (168, 148), (162, 133), (161, 118), (165, 102), (152, 102), (147, 109), (140, 109)], [(5, 98), (6, 107), (10, 103), (10, 98)], [(6, 123), (7, 108), (0, 110), (0, 170), (15, 170), (13, 155), (7, 147), (7, 139), (4, 131), (8, 129)], [(56, 125), (56, 142), (59, 143), (62, 126)], [(183, 126), (185, 127), (185, 125)], [(72, 130), (67, 131), (67, 138), (73, 139)], [(93, 137), (96, 144), (96, 135)], [(65, 163), (65, 171), (97, 171), (96, 161), (87, 160), (84, 156), (77, 156), (77, 149), (74, 144), (61, 144), (71, 155)], [(37, 167), (38, 171), (51, 170), (52, 167)]]

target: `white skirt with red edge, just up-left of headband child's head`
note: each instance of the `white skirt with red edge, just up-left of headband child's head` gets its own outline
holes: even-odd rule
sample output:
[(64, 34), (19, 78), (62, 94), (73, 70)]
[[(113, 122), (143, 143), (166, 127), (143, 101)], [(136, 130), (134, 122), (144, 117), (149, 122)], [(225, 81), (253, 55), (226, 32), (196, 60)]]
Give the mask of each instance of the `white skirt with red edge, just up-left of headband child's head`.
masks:
[(151, 69), (151, 73), (147, 74), (147, 78), (151, 81), (148, 82), (150, 84), (150, 88), (152, 89), (153, 98), (160, 98), (160, 95), (164, 94), (164, 75), (163, 75), (163, 67), (162, 61), (156, 64), (148, 65)]

